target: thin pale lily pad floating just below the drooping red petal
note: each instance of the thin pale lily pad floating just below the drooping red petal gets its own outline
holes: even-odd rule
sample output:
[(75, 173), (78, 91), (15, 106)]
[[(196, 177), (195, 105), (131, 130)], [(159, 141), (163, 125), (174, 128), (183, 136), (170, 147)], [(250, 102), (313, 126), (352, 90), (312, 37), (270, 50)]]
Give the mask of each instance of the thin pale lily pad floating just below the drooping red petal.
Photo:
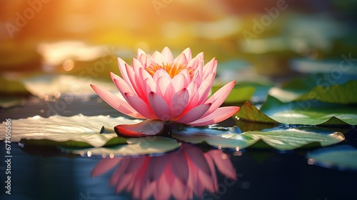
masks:
[(62, 148), (71, 154), (80, 154), (82, 156), (139, 156), (147, 154), (163, 154), (168, 151), (178, 149), (179, 144), (175, 139), (170, 139), (161, 136), (147, 136), (140, 138), (126, 139), (128, 144), (120, 144), (116, 146), (105, 146), (100, 148)]

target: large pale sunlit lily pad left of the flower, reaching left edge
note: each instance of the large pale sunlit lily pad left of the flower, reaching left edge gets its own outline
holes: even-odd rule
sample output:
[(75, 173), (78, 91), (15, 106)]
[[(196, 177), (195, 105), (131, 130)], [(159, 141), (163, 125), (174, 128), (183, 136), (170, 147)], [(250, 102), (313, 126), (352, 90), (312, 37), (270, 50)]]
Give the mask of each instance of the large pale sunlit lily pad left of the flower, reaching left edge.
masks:
[[(45, 146), (101, 147), (126, 144), (113, 127), (136, 124), (140, 120), (109, 116), (41, 116), (11, 120), (11, 141)], [(3, 122), (4, 124), (4, 122)], [(105, 127), (105, 128), (103, 128)], [(0, 130), (4, 140), (5, 129)]]

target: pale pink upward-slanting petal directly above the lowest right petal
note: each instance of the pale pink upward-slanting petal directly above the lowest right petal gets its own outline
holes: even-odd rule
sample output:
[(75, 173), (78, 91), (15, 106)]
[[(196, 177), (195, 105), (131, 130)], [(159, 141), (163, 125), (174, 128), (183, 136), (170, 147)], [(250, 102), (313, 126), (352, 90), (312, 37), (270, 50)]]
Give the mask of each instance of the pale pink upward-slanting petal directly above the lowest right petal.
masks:
[(236, 81), (231, 81), (228, 84), (224, 85), (221, 87), (221, 89), (218, 89), (209, 99), (205, 102), (211, 103), (211, 108), (208, 109), (208, 111), (203, 114), (202, 118), (207, 116), (208, 114), (211, 114), (213, 111), (218, 109), (221, 104), (227, 99), (228, 94), (231, 92), (233, 89), (234, 85), (236, 84)]

